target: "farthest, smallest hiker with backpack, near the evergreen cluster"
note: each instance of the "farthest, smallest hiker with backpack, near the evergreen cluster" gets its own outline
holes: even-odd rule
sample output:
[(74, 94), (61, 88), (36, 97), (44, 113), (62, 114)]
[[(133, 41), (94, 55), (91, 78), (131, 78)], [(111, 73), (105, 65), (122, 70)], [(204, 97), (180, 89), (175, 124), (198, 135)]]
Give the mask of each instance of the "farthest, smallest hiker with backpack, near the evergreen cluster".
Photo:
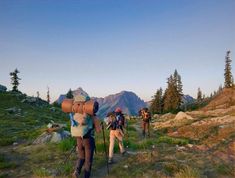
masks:
[(150, 120), (151, 120), (151, 114), (148, 110), (148, 108), (142, 108), (139, 111), (139, 115), (142, 118), (142, 135), (145, 138), (146, 132), (148, 131), (148, 137), (150, 137)]

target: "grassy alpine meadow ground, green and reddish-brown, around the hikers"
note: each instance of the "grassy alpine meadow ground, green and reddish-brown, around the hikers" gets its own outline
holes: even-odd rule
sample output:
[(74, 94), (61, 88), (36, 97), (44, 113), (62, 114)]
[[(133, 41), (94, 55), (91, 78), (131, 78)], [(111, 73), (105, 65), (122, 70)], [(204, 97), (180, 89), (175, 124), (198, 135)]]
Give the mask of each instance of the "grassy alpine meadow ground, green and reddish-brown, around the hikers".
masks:
[[(74, 138), (69, 137), (59, 143), (32, 144), (45, 132), (51, 120), (65, 124), (65, 130), (70, 130), (68, 115), (57, 107), (52, 111), (51, 105), (38, 107), (22, 103), (24, 98), (24, 95), (10, 92), (0, 93), (0, 177), (70, 177), (77, 160)], [(12, 107), (20, 110), (9, 113), (7, 109)], [(227, 148), (233, 148), (233, 127), (207, 125), (197, 132), (192, 130), (198, 122), (209, 119), (203, 116), (191, 120), (191, 124), (174, 121), (173, 129), (154, 129), (155, 125), (160, 127), (169, 121), (154, 119), (150, 137), (143, 138), (141, 120), (132, 117), (124, 129), (127, 154), (122, 156), (119, 153), (116, 142), (114, 163), (109, 165), (109, 174), (109, 130), (104, 124), (104, 130), (95, 134), (92, 177), (232, 178), (235, 176), (234, 166), (225, 152)], [(204, 150), (205, 144), (212, 146), (211, 149)]]

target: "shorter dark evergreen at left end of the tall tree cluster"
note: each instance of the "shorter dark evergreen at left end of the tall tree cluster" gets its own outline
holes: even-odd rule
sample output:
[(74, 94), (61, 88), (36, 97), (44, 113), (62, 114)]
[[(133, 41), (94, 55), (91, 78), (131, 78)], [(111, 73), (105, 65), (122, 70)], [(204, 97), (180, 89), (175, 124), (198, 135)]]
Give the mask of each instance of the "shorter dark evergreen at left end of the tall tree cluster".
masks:
[(161, 114), (163, 110), (163, 96), (162, 96), (162, 88), (158, 89), (154, 98), (152, 100), (150, 111), (152, 113)]

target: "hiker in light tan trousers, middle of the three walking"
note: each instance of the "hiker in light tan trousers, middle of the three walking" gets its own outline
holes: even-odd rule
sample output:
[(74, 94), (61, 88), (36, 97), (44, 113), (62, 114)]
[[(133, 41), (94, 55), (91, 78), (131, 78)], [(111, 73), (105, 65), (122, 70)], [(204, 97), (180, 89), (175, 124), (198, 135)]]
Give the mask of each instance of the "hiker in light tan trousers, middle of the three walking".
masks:
[(124, 138), (124, 127), (125, 127), (125, 117), (120, 108), (117, 108), (114, 112), (110, 112), (107, 115), (106, 123), (108, 124), (107, 129), (110, 130), (109, 134), (109, 159), (108, 163), (113, 163), (113, 149), (115, 140), (118, 140), (118, 145), (120, 149), (120, 153), (124, 155), (126, 153), (123, 146), (123, 138)]

